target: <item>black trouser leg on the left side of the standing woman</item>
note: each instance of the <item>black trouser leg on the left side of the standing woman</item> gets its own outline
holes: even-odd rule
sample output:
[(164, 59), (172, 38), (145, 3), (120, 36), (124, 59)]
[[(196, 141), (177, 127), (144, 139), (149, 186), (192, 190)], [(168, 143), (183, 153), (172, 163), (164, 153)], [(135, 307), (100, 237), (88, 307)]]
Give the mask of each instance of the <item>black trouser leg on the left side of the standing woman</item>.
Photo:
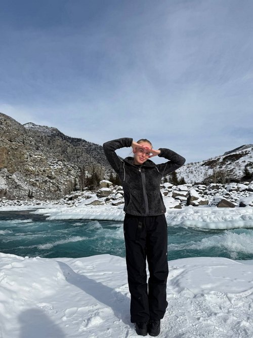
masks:
[[(145, 217), (144, 217), (145, 218)], [(129, 291), (131, 293), (131, 322), (149, 320), (148, 285), (146, 273), (146, 230), (145, 224), (139, 233), (137, 230), (142, 217), (125, 214), (124, 239), (126, 268), (128, 270)]]

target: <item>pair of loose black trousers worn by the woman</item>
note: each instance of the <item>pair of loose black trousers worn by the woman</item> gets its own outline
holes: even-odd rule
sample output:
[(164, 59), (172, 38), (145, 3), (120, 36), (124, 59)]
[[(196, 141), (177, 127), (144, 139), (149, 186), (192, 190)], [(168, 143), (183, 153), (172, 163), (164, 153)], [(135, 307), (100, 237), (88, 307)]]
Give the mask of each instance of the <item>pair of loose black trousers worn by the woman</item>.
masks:
[[(125, 214), (126, 268), (131, 293), (131, 322), (163, 318), (166, 307), (167, 223), (164, 215)], [(149, 279), (147, 284), (146, 258)]]

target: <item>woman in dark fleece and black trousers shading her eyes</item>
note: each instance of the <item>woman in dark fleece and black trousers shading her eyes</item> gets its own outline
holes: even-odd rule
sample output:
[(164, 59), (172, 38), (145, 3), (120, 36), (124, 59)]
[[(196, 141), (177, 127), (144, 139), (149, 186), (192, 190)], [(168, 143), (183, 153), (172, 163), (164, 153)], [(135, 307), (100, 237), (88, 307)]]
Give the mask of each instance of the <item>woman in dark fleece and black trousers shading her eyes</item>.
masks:
[[(132, 147), (134, 157), (120, 159), (115, 151)], [(167, 308), (167, 223), (160, 192), (161, 178), (185, 163), (171, 149), (153, 149), (151, 142), (124, 137), (103, 144), (105, 156), (119, 175), (124, 191), (124, 241), (131, 294), (131, 322), (139, 335), (157, 336)], [(155, 164), (158, 156), (166, 163)], [(147, 284), (146, 259), (149, 279)]]

